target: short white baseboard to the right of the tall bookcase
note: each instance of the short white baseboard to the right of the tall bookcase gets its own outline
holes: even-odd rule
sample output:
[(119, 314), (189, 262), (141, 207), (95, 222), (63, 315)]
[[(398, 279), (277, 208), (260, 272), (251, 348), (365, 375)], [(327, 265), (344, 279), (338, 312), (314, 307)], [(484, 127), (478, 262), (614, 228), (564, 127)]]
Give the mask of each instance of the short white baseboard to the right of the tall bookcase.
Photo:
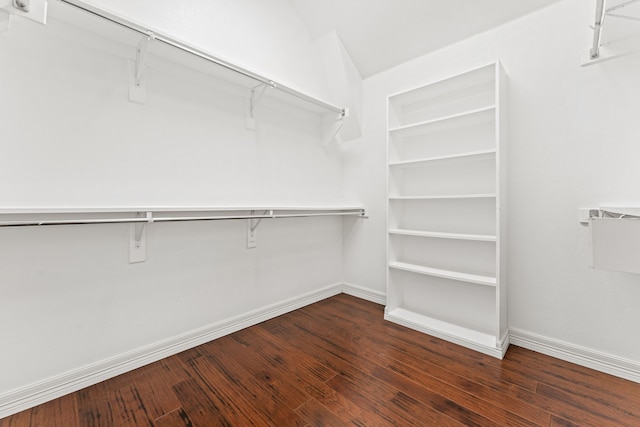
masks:
[(554, 338), (510, 329), (511, 344), (640, 383), (640, 363)]

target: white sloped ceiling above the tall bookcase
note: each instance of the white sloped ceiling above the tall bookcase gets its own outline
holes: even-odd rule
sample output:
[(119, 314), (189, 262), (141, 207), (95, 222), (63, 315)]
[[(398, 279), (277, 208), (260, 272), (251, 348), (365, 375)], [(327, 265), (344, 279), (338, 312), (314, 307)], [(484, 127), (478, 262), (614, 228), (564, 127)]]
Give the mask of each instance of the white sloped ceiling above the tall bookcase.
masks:
[(362, 77), (562, 0), (289, 0), (313, 37), (334, 30)]

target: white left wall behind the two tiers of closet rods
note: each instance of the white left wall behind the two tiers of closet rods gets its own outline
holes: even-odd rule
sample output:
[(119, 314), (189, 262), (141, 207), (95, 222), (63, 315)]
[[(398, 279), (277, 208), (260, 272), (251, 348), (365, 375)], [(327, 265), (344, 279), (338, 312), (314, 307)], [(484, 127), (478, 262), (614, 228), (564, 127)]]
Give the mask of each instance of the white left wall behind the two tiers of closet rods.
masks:
[[(316, 48), (284, 2), (103, 3), (325, 91)], [(261, 104), (247, 130), (246, 90), (157, 58), (146, 104), (129, 103), (121, 54), (134, 47), (55, 17), (45, 27), (16, 18), (0, 34), (0, 208), (343, 200), (342, 160), (322, 147), (316, 114), (265, 101), (273, 108)], [(340, 219), (265, 220), (251, 250), (242, 221), (153, 224), (140, 264), (128, 263), (127, 227), (0, 229), (0, 417), (92, 366), (342, 280)]]

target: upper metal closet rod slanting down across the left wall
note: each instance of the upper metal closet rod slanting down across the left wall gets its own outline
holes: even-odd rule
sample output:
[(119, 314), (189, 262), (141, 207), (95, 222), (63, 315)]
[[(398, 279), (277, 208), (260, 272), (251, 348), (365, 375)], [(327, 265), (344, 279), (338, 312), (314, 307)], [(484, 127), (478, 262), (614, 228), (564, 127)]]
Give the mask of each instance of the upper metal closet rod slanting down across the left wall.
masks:
[(242, 74), (246, 77), (249, 77), (253, 80), (256, 80), (260, 83), (266, 84), (268, 86), (271, 86), (274, 89), (279, 89), (285, 93), (288, 93), (289, 95), (295, 96), (297, 98), (300, 98), (302, 100), (305, 100), (307, 102), (310, 102), (312, 104), (316, 104), (319, 105), (320, 107), (326, 108), (329, 111), (334, 111), (338, 114), (340, 114), (340, 116), (344, 117), (346, 116), (346, 109), (345, 108), (340, 108), (340, 107), (336, 107), (335, 105), (331, 105), (327, 102), (324, 102), (320, 99), (314, 98), (310, 95), (307, 95), (305, 93), (299, 92), (293, 88), (290, 88), (286, 85), (277, 83), (271, 79), (268, 79), (264, 76), (261, 76), (260, 74), (256, 74), (253, 71), (247, 70), (246, 68), (242, 68), (239, 65), (233, 64), (229, 61), (225, 61), (222, 58), (218, 58), (217, 56), (214, 56), (208, 52), (205, 52), (201, 49), (198, 49), (194, 46), (189, 46), (187, 44), (184, 44), (172, 37), (166, 36), (164, 34), (160, 34), (157, 33), (155, 31), (151, 31), (149, 29), (146, 29), (134, 22), (131, 22), (127, 19), (124, 19), (120, 16), (117, 15), (113, 15), (111, 13), (105, 12), (104, 10), (101, 10), (99, 8), (96, 8), (94, 6), (88, 5), (84, 2), (80, 2), (80, 1), (72, 1), (72, 0), (58, 0), (61, 3), (65, 3), (68, 4), (69, 6), (73, 6), (77, 9), (80, 9), (84, 12), (88, 12), (92, 15), (95, 15), (99, 18), (105, 19), (107, 21), (111, 21), (117, 25), (120, 25), (122, 27), (125, 27), (129, 30), (135, 31), (143, 36), (149, 37), (151, 35), (153, 35), (154, 39), (156, 41), (165, 43), (169, 46), (175, 47), (176, 49), (180, 49), (184, 52), (190, 53), (192, 55), (195, 55), (199, 58), (202, 58), (204, 60), (207, 60), (209, 62), (213, 62), (214, 64), (217, 64), (221, 67), (224, 67), (228, 70), (234, 71), (236, 73)]

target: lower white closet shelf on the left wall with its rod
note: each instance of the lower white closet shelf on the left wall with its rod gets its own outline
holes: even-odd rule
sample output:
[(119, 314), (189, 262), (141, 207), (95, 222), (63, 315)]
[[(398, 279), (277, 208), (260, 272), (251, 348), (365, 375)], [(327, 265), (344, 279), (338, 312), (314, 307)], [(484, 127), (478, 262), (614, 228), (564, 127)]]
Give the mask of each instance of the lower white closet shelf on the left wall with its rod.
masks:
[[(144, 216), (142, 216), (144, 214)], [(138, 216), (136, 216), (138, 215)], [(4, 209), (0, 227), (82, 224), (141, 224), (178, 221), (278, 219), (320, 216), (366, 218), (360, 207), (166, 207), (104, 209)]]

